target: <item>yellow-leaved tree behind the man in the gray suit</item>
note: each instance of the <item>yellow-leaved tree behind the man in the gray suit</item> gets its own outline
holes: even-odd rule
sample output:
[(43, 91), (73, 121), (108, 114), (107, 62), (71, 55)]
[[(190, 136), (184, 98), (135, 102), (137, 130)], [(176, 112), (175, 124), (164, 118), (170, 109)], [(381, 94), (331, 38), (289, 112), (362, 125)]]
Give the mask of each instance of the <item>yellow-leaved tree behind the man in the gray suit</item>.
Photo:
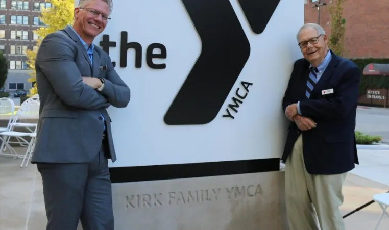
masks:
[[(27, 50), (27, 64), (28, 68), (32, 70), (29, 74), (29, 82), (36, 82), (35, 72), (35, 57), (38, 47), (42, 39), (50, 33), (63, 29), (66, 25), (73, 22), (73, 10), (74, 0), (46, 0), (51, 3), (51, 7), (47, 9), (41, 9), (40, 21), (45, 26), (35, 30), (34, 33), (38, 36), (37, 43), (32, 50)], [(30, 89), (30, 95), (38, 93), (37, 84)]]

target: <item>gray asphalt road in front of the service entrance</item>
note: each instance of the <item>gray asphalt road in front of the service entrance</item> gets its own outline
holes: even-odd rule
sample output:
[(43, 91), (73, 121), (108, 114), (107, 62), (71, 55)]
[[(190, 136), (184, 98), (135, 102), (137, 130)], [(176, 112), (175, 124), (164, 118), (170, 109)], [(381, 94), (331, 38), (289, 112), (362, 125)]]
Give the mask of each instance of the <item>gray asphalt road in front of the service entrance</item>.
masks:
[(389, 109), (358, 107), (355, 130), (381, 136), (382, 143), (389, 144)]

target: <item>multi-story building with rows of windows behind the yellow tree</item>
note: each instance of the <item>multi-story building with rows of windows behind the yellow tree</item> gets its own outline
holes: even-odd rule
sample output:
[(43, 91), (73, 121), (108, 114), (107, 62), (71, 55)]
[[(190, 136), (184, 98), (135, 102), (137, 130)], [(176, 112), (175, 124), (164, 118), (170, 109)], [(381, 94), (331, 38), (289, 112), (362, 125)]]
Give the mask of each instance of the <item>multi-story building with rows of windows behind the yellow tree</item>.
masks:
[(0, 52), (9, 60), (9, 73), (5, 88), (29, 90), (30, 70), (27, 70), (27, 49), (36, 44), (34, 30), (44, 25), (39, 20), (41, 7), (51, 7), (44, 0), (0, 0)]

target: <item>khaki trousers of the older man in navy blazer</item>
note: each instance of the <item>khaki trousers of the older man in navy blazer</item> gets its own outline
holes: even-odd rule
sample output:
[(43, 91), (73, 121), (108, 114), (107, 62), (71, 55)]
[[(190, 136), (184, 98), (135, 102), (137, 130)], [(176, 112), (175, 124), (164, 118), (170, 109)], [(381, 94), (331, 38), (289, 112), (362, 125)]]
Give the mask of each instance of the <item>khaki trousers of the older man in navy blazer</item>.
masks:
[[(328, 165), (331, 167), (331, 165)], [(339, 206), (347, 173), (312, 175), (303, 159), (303, 138), (297, 139), (285, 166), (286, 212), (290, 230), (345, 230)]]

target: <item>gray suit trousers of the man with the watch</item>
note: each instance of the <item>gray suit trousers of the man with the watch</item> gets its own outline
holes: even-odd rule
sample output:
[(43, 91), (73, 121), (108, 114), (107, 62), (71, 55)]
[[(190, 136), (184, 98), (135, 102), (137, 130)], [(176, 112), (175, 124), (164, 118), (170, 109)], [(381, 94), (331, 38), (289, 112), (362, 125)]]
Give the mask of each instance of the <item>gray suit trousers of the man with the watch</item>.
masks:
[(114, 230), (107, 144), (89, 163), (37, 163), (42, 175), (46, 230)]

